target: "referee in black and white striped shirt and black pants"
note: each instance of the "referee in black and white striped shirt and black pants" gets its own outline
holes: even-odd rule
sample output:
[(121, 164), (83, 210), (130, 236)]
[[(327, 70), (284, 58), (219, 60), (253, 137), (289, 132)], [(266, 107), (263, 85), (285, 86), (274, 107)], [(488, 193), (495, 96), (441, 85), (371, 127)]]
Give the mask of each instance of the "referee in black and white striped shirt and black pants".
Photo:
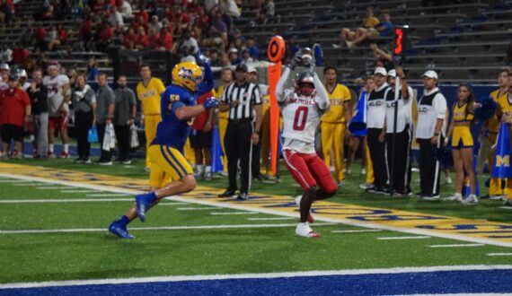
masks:
[[(219, 197), (234, 196), (236, 175), (240, 161), (241, 187), (239, 199), (248, 199), (250, 187), (250, 164), (252, 144), (260, 142), (261, 97), (260, 90), (248, 81), (247, 65), (240, 64), (235, 69), (235, 81), (225, 88), (219, 109), (228, 111), (228, 123), (225, 131), (225, 152), (227, 154), (227, 173), (229, 186)], [(254, 120), (254, 126), (252, 120)]]

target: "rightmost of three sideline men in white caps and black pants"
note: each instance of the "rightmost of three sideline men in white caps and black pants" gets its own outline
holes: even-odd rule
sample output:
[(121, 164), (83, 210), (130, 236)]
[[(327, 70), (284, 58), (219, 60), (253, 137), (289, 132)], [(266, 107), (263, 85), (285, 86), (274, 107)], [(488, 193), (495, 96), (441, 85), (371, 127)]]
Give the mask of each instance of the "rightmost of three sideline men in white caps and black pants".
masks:
[(439, 198), (439, 166), (437, 148), (446, 135), (446, 99), (437, 88), (437, 73), (428, 70), (423, 74), (423, 96), (418, 101), (416, 138), (419, 143), (420, 198)]

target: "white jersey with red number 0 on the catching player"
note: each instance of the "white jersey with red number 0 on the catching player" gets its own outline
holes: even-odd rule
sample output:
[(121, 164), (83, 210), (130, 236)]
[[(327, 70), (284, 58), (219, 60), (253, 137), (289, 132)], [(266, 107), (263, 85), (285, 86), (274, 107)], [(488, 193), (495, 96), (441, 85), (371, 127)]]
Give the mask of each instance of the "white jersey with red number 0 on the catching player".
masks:
[(320, 125), (324, 110), (318, 106), (319, 97), (298, 95), (292, 89), (285, 90), (281, 102), (283, 115), (283, 149), (314, 153), (314, 134)]

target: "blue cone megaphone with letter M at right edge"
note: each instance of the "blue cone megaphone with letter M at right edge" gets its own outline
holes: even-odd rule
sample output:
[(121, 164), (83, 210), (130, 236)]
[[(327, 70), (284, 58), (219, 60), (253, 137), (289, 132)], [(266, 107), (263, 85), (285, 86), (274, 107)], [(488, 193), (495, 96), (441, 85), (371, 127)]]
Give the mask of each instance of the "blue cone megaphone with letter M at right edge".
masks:
[(499, 128), (494, 155), (494, 167), (491, 176), (493, 178), (512, 178), (512, 171), (510, 170), (510, 131), (507, 125), (501, 125)]

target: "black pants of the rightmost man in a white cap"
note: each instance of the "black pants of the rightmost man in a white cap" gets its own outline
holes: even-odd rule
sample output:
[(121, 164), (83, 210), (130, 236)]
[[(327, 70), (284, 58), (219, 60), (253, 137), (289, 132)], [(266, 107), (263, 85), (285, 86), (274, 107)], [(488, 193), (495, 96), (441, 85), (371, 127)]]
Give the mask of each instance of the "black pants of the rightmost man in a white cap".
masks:
[[(439, 137), (439, 143), (445, 141)], [(426, 195), (439, 194), (439, 176), (441, 164), (437, 161), (437, 145), (431, 144), (430, 139), (418, 139), (419, 143), (419, 185), (421, 193)], [(438, 143), (438, 144), (439, 144)]]

